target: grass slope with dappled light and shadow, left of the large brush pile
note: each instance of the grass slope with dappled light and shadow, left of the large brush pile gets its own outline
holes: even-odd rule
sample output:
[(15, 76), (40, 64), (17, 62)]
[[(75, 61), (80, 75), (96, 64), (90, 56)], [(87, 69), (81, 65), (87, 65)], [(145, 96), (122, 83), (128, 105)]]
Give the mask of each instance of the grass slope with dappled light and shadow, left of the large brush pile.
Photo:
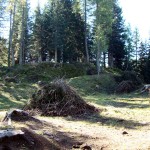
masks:
[(7, 83), (4, 86), (1, 86), (0, 110), (22, 108), (36, 89), (36, 87), (30, 84)]

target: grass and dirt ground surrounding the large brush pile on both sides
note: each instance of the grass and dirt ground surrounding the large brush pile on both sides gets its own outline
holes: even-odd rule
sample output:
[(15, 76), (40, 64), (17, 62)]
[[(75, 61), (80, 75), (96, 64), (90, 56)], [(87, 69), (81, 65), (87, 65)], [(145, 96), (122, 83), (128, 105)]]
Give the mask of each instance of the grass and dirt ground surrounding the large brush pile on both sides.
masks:
[[(77, 84), (76, 81), (75, 83)], [(55, 145), (55, 148), (50, 150), (83, 149), (85, 145), (90, 146), (92, 150), (150, 149), (150, 97), (148, 95), (139, 95), (135, 92), (124, 95), (99, 92), (87, 92), (87, 94), (85, 88), (89, 86), (85, 86), (83, 81), (81, 83), (84, 88), (71, 85), (88, 103), (100, 109), (100, 113), (76, 118), (35, 116), (38, 122), (13, 121), (12, 128), (27, 128), (45, 137)], [(5, 116), (8, 109), (21, 108), (37, 88), (36, 84), (1, 82), (0, 119)], [(1, 122), (0, 129), (6, 128), (8, 126)]]

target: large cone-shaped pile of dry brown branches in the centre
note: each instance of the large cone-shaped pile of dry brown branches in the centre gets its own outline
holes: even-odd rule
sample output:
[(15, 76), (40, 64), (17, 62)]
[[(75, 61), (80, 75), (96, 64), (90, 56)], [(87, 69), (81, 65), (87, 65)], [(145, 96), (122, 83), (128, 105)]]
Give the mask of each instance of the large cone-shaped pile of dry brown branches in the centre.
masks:
[(40, 110), (44, 116), (75, 116), (97, 112), (63, 80), (47, 84), (33, 94), (26, 109)]

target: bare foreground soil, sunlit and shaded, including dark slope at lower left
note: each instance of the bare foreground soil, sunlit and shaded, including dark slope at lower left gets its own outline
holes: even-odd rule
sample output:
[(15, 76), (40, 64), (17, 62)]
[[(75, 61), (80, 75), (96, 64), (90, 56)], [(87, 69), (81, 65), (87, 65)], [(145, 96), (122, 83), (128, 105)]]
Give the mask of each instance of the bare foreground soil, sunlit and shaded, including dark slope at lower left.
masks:
[[(1, 124), (2, 126), (3, 124)], [(1, 149), (11, 150), (148, 150), (150, 149), (150, 126), (140, 130), (87, 123), (80, 119), (62, 117), (39, 117), (33, 120), (12, 121), (15, 129), (24, 136), (1, 140)]]

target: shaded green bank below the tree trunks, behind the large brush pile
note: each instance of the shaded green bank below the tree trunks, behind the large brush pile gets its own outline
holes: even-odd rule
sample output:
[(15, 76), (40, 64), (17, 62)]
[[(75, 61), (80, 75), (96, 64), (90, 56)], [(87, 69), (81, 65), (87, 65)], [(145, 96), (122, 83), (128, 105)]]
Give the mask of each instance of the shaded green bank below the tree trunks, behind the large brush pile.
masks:
[(56, 78), (71, 78), (86, 74), (86, 70), (90, 68), (87, 64), (54, 64), (54, 63), (39, 63), (26, 64), (23, 66), (15, 66), (10, 69), (0, 69), (0, 77), (6, 74), (9, 77), (17, 77), (21, 82), (36, 83), (39, 80), (52, 81)]

